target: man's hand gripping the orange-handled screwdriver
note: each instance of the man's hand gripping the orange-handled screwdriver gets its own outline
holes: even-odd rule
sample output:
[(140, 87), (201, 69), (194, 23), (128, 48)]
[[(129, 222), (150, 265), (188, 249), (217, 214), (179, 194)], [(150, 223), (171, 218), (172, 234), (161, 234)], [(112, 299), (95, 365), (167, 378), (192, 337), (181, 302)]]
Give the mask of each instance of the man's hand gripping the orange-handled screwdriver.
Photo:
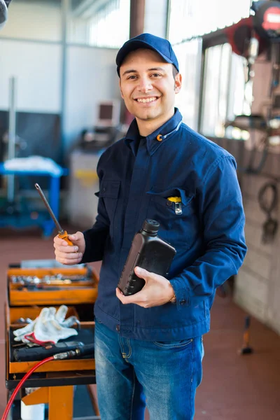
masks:
[(58, 235), (53, 239), (55, 259), (65, 265), (78, 264), (85, 253), (85, 238), (82, 232), (76, 232), (73, 235), (68, 235), (68, 237), (73, 246), (68, 245)]

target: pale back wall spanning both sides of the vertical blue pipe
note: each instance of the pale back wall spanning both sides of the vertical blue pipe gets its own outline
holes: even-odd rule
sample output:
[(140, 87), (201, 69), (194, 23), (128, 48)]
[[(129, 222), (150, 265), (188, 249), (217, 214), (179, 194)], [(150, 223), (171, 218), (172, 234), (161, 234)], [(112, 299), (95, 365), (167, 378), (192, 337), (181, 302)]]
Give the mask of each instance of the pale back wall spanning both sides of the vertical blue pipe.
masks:
[[(31, 118), (35, 113), (40, 114), (42, 122), (50, 114), (60, 120), (63, 113), (63, 141), (56, 140), (60, 148), (60, 153), (55, 155), (57, 162), (75, 144), (84, 128), (94, 126), (99, 101), (120, 99), (117, 51), (64, 45), (61, 15), (60, 1), (15, 1), (10, 4), (9, 19), (0, 34), (0, 111), (8, 111), (9, 83), (14, 76), (16, 110), (27, 113), (29, 125), (35, 124)], [(0, 150), (2, 134), (7, 130), (5, 121), (0, 120)], [(25, 130), (25, 141), (42, 144), (43, 130), (42, 124), (35, 138), (32, 130)], [(54, 138), (57, 139), (57, 132), (51, 140)]]

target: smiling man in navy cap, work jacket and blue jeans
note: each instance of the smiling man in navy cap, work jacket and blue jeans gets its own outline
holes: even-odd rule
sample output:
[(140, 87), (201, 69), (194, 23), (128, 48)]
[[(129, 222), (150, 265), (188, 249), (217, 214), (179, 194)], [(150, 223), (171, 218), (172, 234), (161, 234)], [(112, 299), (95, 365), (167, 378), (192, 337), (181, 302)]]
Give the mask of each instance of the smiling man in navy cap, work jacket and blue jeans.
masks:
[[(69, 235), (74, 246), (55, 237), (55, 255), (64, 264), (102, 260), (94, 305), (102, 420), (143, 419), (145, 405), (152, 420), (190, 420), (215, 290), (246, 253), (235, 160), (174, 109), (181, 74), (167, 40), (132, 38), (116, 63), (135, 119), (99, 160), (96, 223)], [(146, 284), (125, 296), (118, 280), (146, 218), (160, 223), (176, 256), (168, 279), (136, 268)]]

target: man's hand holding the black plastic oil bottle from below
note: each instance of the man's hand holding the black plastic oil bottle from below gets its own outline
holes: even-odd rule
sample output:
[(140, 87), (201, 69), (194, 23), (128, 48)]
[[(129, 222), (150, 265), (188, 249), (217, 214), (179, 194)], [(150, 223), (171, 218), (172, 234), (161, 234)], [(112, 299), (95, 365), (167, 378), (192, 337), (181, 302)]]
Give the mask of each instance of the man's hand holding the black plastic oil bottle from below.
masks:
[(123, 295), (120, 289), (116, 288), (116, 295), (123, 304), (135, 303), (141, 307), (150, 308), (165, 304), (174, 297), (172, 284), (165, 277), (140, 267), (135, 267), (134, 272), (144, 279), (146, 284), (142, 290), (130, 296)]

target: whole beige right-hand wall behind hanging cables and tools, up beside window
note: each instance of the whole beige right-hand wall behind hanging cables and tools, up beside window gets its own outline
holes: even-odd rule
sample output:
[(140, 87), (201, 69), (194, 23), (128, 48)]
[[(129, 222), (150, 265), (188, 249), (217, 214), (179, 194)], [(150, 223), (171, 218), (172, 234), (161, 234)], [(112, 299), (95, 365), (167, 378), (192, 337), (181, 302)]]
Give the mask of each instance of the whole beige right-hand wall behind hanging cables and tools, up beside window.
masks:
[[(252, 113), (266, 115), (271, 69), (272, 64), (267, 62), (266, 57), (259, 57), (254, 68)], [(270, 148), (265, 165), (259, 174), (244, 172), (251, 158), (254, 140), (262, 135), (253, 130), (249, 141), (221, 139), (217, 142), (237, 158), (246, 214), (245, 232), (248, 253), (235, 281), (234, 300), (248, 314), (252, 314), (280, 334), (280, 227), (274, 241), (267, 244), (262, 241), (262, 225), (267, 220), (267, 216), (260, 209), (258, 202), (259, 190), (267, 182), (275, 183), (280, 193), (279, 146)], [(256, 153), (255, 167), (258, 166), (261, 157), (261, 151)], [(276, 218), (280, 225), (279, 204), (272, 213), (272, 217)]]

